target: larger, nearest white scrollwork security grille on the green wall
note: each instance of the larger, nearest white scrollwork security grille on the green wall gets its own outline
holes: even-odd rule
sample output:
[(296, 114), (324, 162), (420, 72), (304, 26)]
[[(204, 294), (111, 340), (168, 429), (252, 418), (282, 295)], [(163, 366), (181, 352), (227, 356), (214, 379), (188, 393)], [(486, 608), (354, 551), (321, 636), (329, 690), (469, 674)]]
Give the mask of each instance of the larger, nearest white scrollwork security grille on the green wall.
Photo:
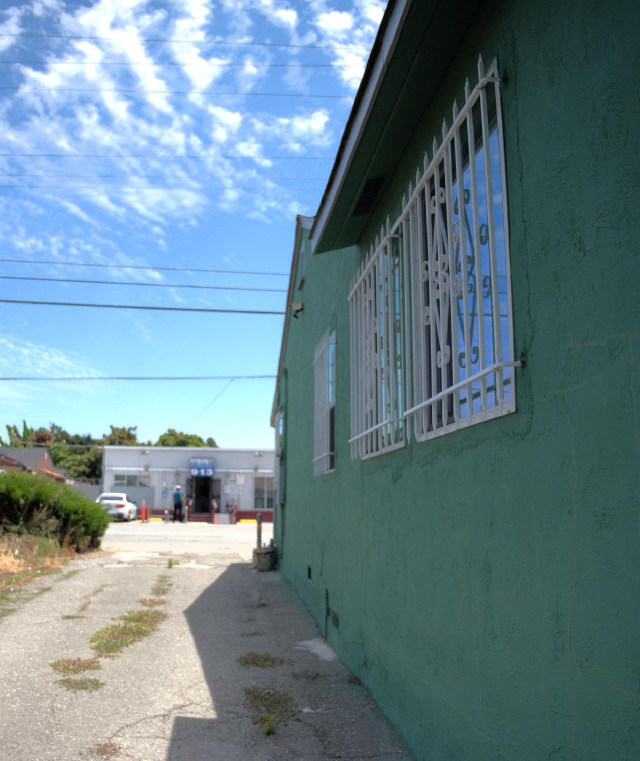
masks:
[[(464, 85), (432, 159), (396, 223), (410, 261), (418, 441), (515, 411), (509, 231), (499, 78), (494, 62)], [(413, 393), (410, 393), (410, 392)]]

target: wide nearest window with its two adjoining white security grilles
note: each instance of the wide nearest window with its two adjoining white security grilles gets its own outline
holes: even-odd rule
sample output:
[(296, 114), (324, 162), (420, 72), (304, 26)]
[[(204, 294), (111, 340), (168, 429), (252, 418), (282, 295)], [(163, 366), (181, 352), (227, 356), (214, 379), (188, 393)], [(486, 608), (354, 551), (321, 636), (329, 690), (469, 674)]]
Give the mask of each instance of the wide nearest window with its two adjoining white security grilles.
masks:
[[(442, 123), (442, 142), (433, 139), (401, 215), (356, 275), (351, 442), (361, 458), (398, 446), (411, 422), (425, 441), (515, 411), (499, 82), (496, 62), (485, 73), (480, 57), (477, 85), (465, 83), (463, 107), (454, 103), (451, 127)], [(391, 298), (386, 284), (396, 280), (387, 274), (381, 284), (372, 269), (384, 278), (379, 260), (394, 250)], [(380, 318), (391, 310), (397, 319), (385, 333)]]

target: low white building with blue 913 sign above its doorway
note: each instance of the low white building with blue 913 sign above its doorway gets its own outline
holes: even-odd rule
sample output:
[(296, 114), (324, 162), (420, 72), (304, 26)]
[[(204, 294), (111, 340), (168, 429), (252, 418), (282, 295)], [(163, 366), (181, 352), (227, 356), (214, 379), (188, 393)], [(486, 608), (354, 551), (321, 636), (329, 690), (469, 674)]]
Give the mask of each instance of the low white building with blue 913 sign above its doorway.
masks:
[[(103, 491), (126, 492), (150, 514), (173, 513), (179, 486), (191, 503), (190, 521), (224, 522), (262, 513), (273, 519), (274, 451), (210, 447), (107, 446), (103, 452)], [(216, 513), (217, 508), (217, 513)], [(217, 516), (217, 517), (216, 517)]]

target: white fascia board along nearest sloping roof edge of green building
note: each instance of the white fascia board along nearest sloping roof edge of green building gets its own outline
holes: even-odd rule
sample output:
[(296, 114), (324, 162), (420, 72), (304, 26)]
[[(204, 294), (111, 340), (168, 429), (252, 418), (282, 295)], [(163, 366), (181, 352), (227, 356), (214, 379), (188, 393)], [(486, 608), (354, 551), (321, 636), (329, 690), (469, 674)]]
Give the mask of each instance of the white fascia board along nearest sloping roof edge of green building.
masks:
[(398, 43), (398, 37), (400, 36), (404, 18), (409, 11), (411, 0), (398, 0), (395, 3), (394, 8), (391, 9), (391, 15), (388, 20), (385, 35), (382, 38), (382, 44), (378, 56), (375, 60), (375, 65), (369, 77), (369, 82), (366, 85), (366, 90), (363, 94), (363, 98), (360, 101), (358, 111), (353, 119), (353, 125), (351, 126), (347, 142), (344, 145), (344, 151), (340, 158), (340, 163), (337, 165), (334, 179), (331, 183), (331, 189), (328, 190), (325, 202), (322, 203), (318, 214), (315, 218), (315, 228), (311, 238), (311, 253), (315, 255), (315, 250), (318, 247), (318, 240), (322, 237), (327, 226), (327, 222), (333, 213), (337, 196), (340, 195), (344, 180), (347, 177), (347, 172), (353, 161), (353, 155), (356, 153), (358, 145), (360, 145), (360, 139), (363, 135), (363, 130), (369, 120), (369, 114), (375, 103), (375, 99), (378, 96), (380, 84), (382, 78), (388, 68), (391, 60), (391, 54), (393, 53), (396, 43)]

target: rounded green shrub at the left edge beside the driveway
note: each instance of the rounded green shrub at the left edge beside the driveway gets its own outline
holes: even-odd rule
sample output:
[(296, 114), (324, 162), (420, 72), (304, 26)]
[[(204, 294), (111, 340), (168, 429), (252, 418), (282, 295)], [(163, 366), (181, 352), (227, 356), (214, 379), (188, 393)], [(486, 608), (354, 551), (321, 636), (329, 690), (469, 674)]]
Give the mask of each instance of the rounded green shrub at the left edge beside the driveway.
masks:
[(109, 515), (70, 486), (33, 473), (0, 473), (0, 530), (49, 537), (78, 551), (99, 547)]

